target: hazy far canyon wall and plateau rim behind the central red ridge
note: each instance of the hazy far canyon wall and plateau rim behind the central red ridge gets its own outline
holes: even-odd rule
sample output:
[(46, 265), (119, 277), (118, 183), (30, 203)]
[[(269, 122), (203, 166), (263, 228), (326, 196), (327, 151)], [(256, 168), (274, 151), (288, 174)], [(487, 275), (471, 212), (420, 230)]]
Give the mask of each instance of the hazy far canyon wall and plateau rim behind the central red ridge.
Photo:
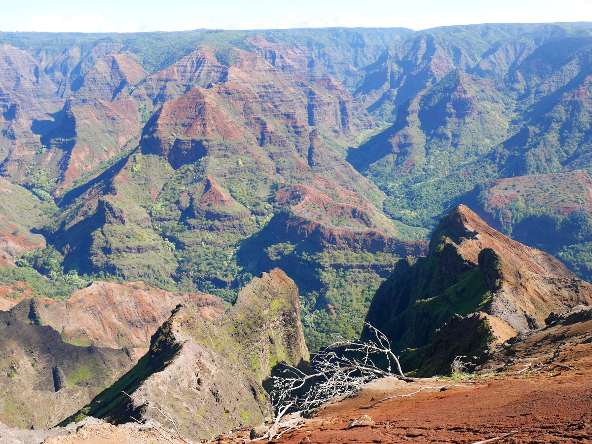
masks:
[[(262, 34), (275, 41), (280, 56), (291, 44), (300, 46), (297, 52), (307, 62), (305, 76), (346, 79), (407, 32), (399, 28)], [(0, 171), (30, 186), (38, 171), (47, 171), (57, 179), (51, 191), (57, 185), (59, 195), (81, 175), (104, 169), (108, 159), (138, 135), (156, 105), (192, 86), (221, 81), (226, 76), (223, 67), (233, 59), (231, 48), (256, 51), (253, 38), (262, 39), (253, 31), (1, 33), (5, 63), (0, 73), (0, 128), (5, 139), (0, 141)], [(322, 47), (339, 51), (339, 58), (327, 57)]]

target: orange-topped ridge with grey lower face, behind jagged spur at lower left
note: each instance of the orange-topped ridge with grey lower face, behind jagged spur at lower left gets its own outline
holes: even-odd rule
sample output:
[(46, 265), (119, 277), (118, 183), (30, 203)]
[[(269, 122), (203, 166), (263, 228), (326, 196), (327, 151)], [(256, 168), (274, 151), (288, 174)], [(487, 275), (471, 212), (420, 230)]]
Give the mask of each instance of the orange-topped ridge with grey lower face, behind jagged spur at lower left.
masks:
[(0, 313), (2, 422), (47, 428), (63, 420), (132, 368), (171, 311), (190, 300), (204, 319), (224, 312), (210, 295), (93, 282), (67, 300), (27, 298)]

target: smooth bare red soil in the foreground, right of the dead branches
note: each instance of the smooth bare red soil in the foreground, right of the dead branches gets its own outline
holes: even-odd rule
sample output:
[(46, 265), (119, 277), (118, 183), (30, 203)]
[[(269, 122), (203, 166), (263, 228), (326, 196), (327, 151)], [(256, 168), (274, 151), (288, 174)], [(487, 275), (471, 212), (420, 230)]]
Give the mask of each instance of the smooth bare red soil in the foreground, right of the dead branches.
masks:
[[(576, 373), (579, 373), (578, 375)], [(487, 383), (452, 383), (446, 391), (426, 390), (411, 398), (395, 398), (374, 408), (360, 409), (394, 394), (420, 387), (441, 387), (446, 381), (401, 384), (383, 379), (354, 398), (324, 408), (303, 429), (288, 432), (277, 442), (299, 443), (474, 443), (518, 433), (504, 443), (590, 442), (592, 380), (590, 372), (552, 377), (519, 375)], [(368, 414), (373, 427), (347, 429), (352, 420)], [(306, 433), (306, 431), (310, 433)]]

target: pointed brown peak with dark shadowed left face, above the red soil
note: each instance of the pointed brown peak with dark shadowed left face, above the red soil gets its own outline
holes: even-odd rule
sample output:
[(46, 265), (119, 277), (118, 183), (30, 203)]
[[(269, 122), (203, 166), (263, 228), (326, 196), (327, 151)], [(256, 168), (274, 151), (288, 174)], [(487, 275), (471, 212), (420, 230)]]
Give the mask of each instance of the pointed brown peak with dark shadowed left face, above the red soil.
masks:
[[(435, 363), (435, 343), (442, 353), (454, 353), (456, 347), (464, 351), (457, 355), (469, 355), (538, 329), (552, 311), (578, 304), (592, 304), (592, 285), (553, 256), (511, 240), (459, 205), (440, 221), (426, 258), (397, 263), (378, 289), (367, 320), (398, 349), (423, 347), (404, 358), (413, 368), (422, 365), (418, 356), (432, 347), (423, 364), (429, 373), (446, 371), (446, 361), (455, 357), (438, 356)], [(468, 331), (473, 332), (470, 340), (462, 334)]]

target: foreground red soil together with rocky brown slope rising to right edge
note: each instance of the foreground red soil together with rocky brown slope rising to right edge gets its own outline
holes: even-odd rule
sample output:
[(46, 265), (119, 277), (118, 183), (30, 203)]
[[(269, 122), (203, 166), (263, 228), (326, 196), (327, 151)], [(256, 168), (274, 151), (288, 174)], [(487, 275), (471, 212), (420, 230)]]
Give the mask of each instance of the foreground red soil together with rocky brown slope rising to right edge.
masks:
[[(494, 368), (501, 364), (497, 373), (486, 373), (489, 369), (484, 369), (481, 375), (456, 382), (378, 379), (356, 395), (321, 407), (301, 429), (272, 442), (471, 444), (516, 431), (497, 442), (589, 443), (591, 330), (592, 316), (589, 310), (583, 310), (571, 320), (497, 350), (490, 364)], [(516, 362), (510, 365), (513, 359)], [(525, 371), (527, 364), (533, 369)], [(443, 385), (448, 387), (441, 390)], [(361, 408), (423, 387), (437, 389)], [(348, 429), (348, 424), (363, 414), (370, 416), (374, 424)], [(239, 443), (248, 432), (239, 430), (219, 437), (217, 442)]]

